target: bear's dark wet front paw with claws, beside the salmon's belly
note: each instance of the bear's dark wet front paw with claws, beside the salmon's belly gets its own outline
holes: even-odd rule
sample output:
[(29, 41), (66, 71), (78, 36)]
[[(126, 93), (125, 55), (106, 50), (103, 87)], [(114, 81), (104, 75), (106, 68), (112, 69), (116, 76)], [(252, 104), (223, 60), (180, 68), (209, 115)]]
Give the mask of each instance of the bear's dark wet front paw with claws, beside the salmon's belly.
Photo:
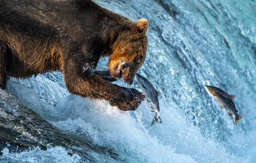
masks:
[(110, 102), (111, 106), (117, 106), (120, 110), (136, 110), (137, 107), (145, 100), (145, 96), (133, 88), (123, 88), (124, 96), (115, 102)]

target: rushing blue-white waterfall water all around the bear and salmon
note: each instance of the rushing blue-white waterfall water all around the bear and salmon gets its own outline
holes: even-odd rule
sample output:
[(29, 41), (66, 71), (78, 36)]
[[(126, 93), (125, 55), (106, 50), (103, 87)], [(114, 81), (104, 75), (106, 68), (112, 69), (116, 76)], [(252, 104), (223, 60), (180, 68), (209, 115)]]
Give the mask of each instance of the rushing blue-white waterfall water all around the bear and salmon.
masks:
[[(71, 95), (60, 73), (12, 79), (7, 91), (65, 132), (113, 148), (125, 162), (256, 162), (256, 1), (96, 2), (133, 21), (149, 20), (148, 52), (139, 73), (162, 92), (163, 124), (150, 126), (154, 113), (146, 102), (136, 112), (122, 112), (105, 101)], [(106, 63), (101, 59), (98, 68)], [(243, 116), (237, 127), (204, 85), (236, 95)], [(131, 87), (139, 89), (136, 82)], [(3, 153), (11, 160), (29, 159)], [(39, 162), (59, 162), (56, 154), (77, 161), (61, 147), (27, 153)]]

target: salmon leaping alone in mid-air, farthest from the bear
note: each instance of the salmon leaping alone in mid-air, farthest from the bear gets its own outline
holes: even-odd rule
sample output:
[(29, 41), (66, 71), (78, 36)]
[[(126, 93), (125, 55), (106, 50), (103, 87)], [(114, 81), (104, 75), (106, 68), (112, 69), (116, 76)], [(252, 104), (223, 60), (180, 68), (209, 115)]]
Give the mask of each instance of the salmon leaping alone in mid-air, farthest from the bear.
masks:
[(234, 116), (235, 125), (238, 125), (238, 121), (243, 117), (238, 115), (238, 110), (233, 102), (235, 95), (229, 95), (220, 88), (205, 85), (206, 91), (218, 102), (220, 103), (219, 109), (226, 109), (229, 116)]

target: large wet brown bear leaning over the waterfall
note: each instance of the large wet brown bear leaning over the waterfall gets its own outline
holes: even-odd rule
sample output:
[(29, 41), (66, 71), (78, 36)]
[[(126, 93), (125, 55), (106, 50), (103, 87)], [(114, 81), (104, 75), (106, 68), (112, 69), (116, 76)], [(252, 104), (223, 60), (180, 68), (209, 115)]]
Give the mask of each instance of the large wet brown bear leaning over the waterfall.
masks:
[(109, 56), (110, 74), (132, 84), (146, 57), (148, 21), (133, 22), (91, 0), (0, 0), (0, 87), (9, 77), (61, 71), (67, 90), (135, 110), (143, 94), (90, 77)]

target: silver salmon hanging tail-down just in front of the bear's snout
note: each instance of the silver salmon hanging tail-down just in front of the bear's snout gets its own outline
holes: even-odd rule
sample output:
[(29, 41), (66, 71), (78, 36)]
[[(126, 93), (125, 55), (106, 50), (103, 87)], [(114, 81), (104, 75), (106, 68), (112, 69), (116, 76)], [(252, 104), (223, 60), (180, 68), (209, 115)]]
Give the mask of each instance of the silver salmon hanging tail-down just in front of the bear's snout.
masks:
[(149, 82), (148, 79), (143, 77), (140, 74), (136, 74), (137, 82), (140, 85), (143, 93), (146, 95), (147, 100), (150, 103), (150, 107), (152, 112), (155, 112), (155, 117), (151, 123), (151, 125), (155, 124), (156, 122), (162, 123), (162, 120), (159, 115), (159, 101), (158, 96), (161, 94), (160, 92), (156, 91), (153, 85)]

